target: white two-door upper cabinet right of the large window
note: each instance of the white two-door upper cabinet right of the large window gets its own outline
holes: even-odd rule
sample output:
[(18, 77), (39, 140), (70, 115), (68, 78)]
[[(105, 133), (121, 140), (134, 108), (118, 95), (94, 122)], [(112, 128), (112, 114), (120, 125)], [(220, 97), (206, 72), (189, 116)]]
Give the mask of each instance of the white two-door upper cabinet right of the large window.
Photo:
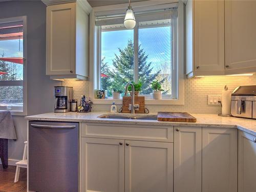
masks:
[(186, 3), (186, 75), (256, 72), (256, 1)]

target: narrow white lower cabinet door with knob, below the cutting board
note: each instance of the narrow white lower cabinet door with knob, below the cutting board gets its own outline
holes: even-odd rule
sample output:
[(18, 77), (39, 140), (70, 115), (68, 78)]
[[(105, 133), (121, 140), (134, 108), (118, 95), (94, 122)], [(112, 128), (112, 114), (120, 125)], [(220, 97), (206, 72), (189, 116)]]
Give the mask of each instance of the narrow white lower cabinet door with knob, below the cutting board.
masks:
[(175, 127), (174, 191), (202, 191), (202, 127)]

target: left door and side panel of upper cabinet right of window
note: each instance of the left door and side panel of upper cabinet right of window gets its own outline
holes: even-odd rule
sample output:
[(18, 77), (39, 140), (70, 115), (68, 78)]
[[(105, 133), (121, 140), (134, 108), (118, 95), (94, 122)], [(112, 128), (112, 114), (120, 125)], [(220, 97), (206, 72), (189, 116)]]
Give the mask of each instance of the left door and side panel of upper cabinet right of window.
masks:
[(187, 1), (186, 74), (224, 75), (224, 1)]

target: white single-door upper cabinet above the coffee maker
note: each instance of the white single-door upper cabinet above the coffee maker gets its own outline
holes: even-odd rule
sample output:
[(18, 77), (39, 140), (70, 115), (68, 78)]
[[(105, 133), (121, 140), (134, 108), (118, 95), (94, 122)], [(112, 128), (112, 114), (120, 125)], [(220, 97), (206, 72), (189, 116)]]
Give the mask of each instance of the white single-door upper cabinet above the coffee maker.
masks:
[(51, 78), (88, 77), (89, 12), (80, 3), (47, 7), (47, 67)]

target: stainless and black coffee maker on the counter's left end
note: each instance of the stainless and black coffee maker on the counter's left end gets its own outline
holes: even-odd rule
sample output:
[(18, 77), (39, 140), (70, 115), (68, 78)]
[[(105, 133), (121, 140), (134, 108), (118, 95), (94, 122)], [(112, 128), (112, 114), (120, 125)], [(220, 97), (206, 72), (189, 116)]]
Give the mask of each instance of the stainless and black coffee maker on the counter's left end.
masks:
[(55, 113), (65, 113), (71, 111), (71, 101), (73, 99), (72, 87), (54, 87)]

